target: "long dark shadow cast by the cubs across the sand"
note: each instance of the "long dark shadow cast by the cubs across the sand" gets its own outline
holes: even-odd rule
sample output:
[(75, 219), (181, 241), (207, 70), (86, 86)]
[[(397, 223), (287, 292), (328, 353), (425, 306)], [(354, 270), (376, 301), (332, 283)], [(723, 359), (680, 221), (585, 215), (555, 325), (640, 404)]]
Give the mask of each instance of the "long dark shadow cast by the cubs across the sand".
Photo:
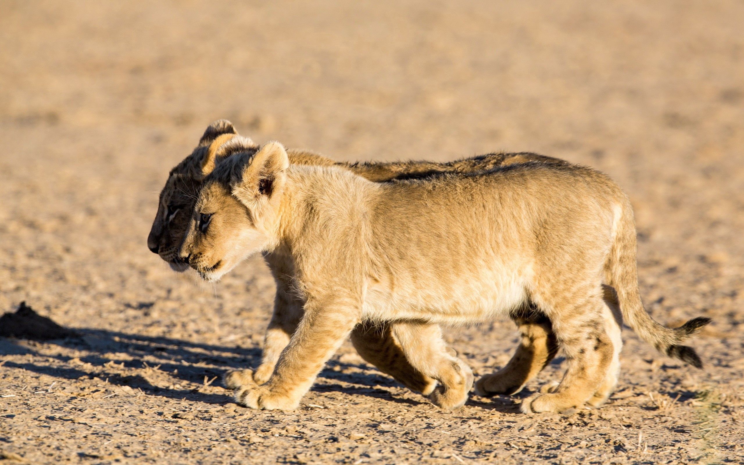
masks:
[[(106, 379), (115, 386), (129, 386), (141, 389), (149, 395), (178, 400), (192, 400), (203, 403), (231, 403), (231, 393), (208, 394), (198, 388), (179, 388), (176, 384), (163, 387), (167, 382), (153, 383), (157, 376), (145, 373), (156, 371), (164, 379), (182, 379), (201, 384), (206, 379), (214, 379), (214, 385), (221, 385), (222, 375), (233, 369), (255, 368), (260, 363), (261, 350), (257, 347), (228, 347), (217, 344), (202, 344), (182, 339), (159, 336), (142, 336), (118, 331), (76, 328), (64, 339), (34, 341), (32, 338), (0, 337), (0, 353), (6, 355), (33, 354), (45, 359), (48, 365), (34, 362), (12, 362), (7, 360), (5, 368), (21, 368), (33, 373), (56, 376), (61, 379)], [(48, 344), (65, 347), (73, 355), (39, 350)], [(112, 354), (115, 357), (112, 357)], [(121, 366), (124, 362), (124, 366)], [(87, 365), (90, 364), (90, 365)], [(83, 369), (86, 368), (86, 369)], [(353, 368), (353, 370), (347, 370)], [(316, 384), (312, 391), (343, 392), (363, 395), (395, 403), (420, 405), (426, 403), (396, 397), (381, 387), (400, 386), (394, 379), (382, 373), (374, 373), (374, 368), (360, 364), (332, 360), (319, 378), (324, 382)], [(347, 373), (347, 371), (351, 371)], [(336, 382), (333, 382), (336, 381)]]

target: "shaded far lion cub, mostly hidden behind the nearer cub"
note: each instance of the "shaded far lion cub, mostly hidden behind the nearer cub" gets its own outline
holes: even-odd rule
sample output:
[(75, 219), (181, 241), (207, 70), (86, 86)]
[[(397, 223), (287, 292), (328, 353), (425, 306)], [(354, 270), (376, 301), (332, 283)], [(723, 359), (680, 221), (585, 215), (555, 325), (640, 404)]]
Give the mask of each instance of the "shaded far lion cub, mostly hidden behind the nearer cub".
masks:
[[(184, 271), (187, 265), (176, 256), (176, 248), (182, 242), (185, 234), (190, 213), (193, 210), (196, 192), (201, 182), (211, 170), (214, 169), (216, 158), (225, 158), (231, 155), (230, 150), (219, 151), (217, 149), (225, 142), (231, 140), (237, 132), (229, 121), (220, 120), (211, 124), (202, 135), (199, 145), (193, 153), (179, 165), (173, 168), (161, 192), (158, 205), (158, 214), (155, 216), (153, 228), (148, 237), (148, 246), (157, 251), (176, 271)], [(238, 150), (245, 150), (245, 145), (257, 149), (251, 141), (243, 139)], [(373, 181), (384, 182), (391, 179), (412, 179), (414, 177), (430, 176), (433, 173), (453, 171), (461, 173), (472, 173), (479, 170), (491, 170), (495, 167), (525, 162), (542, 163), (565, 163), (557, 158), (536, 155), (533, 153), (492, 153), (479, 155), (472, 158), (464, 158), (449, 163), (437, 163), (432, 161), (399, 161), (399, 162), (368, 162), (344, 164), (338, 163), (315, 153), (301, 150), (289, 150), (289, 161), (292, 164), (310, 164), (317, 166), (347, 167), (354, 173)], [(292, 292), (292, 260), (279, 253), (265, 254), (266, 262), (271, 269), (277, 283), (275, 297), (275, 309), (269, 322), (264, 340), (264, 351), (260, 366), (251, 373), (257, 383), (266, 382), (274, 371), (275, 364), (279, 359), (281, 351), (289, 343), (289, 338), (294, 333), (299, 319), (302, 315), (304, 302)], [(530, 315), (519, 317), (519, 328), (522, 332), (529, 332), (533, 323), (530, 318), (537, 322), (536, 329), (539, 330), (543, 321), (547, 318), (538, 309), (533, 308)], [(515, 319), (517, 322), (517, 320)], [(554, 338), (553, 338), (554, 339)], [(351, 341), (367, 362), (375, 365), (383, 373), (393, 376), (413, 391), (422, 394), (432, 394), (437, 381), (424, 375), (417, 368), (411, 366), (405, 355), (396, 332), (391, 324), (373, 324), (363, 321), (351, 333)], [(441, 341), (432, 341), (432, 347), (443, 344)], [(529, 345), (525, 345), (529, 344)], [(490, 376), (491, 383), (487, 387), (482, 385), (487, 380), (481, 379), (478, 394), (512, 394), (519, 391), (530, 379), (533, 378), (550, 359), (542, 362), (539, 357), (529, 358), (533, 365), (525, 366), (525, 350), (530, 353), (548, 353), (548, 347), (543, 339), (529, 339), (520, 344), (514, 359), (519, 363), (510, 362), (506, 368)], [(553, 353), (554, 355), (554, 353)], [(551, 358), (552, 356), (551, 355)], [(523, 373), (523, 371), (527, 370)], [(231, 372), (225, 376), (225, 385), (228, 388), (237, 388), (243, 384), (246, 373)], [(500, 388), (506, 386), (506, 388)], [(441, 389), (441, 388), (440, 388)]]

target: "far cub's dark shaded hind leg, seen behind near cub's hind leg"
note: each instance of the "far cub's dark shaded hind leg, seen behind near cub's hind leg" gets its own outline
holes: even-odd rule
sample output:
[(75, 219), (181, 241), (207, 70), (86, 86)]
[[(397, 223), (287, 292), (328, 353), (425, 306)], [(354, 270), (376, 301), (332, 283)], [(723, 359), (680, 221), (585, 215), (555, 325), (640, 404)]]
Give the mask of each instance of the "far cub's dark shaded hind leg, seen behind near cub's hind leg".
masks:
[(516, 394), (556, 355), (558, 344), (551, 321), (542, 312), (530, 310), (512, 316), (522, 336), (519, 346), (504, 368), (478, 379), (475, 394), (481, 397)]

